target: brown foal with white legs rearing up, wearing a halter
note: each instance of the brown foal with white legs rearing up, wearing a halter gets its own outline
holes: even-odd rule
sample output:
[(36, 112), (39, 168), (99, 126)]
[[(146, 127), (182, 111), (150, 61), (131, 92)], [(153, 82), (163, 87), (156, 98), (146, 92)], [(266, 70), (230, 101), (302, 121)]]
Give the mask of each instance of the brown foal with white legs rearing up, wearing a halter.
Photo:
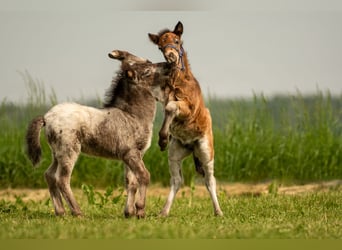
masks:
[(173, 31), (164, 29), (157, 35), (148, 34), (158, 45), (166, 61), (172, 65), (171, 81), (165, 89), (165, 117), (159, 132), (161, 150), (167, 146), (169, 133), (169, 167), (171, 191), (161, 211), (168, 215), (172, 202), (182, 183), (182, 160), (193, 154), (196, 171), (205, 178), (215, 215), (222, 215), (216, 195), (214, 177), (214, 143), (211, 116), (205, 107), (201, 88), (192, 75), (181, 36), (183, 24), (178, 22)]

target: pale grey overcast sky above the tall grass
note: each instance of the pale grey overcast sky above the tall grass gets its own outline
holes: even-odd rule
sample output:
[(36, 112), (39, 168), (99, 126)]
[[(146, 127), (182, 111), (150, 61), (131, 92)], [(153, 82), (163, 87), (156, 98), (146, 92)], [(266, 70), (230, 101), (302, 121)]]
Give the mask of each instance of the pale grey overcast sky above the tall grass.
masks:
[(339, 0), (0, 0), (0, 101), (27, 100), (25, 72), (58, 101), (102, 98), (108, 52), (164, 61), (147, 33), (178, 21), (205, 97), (342, 94)]

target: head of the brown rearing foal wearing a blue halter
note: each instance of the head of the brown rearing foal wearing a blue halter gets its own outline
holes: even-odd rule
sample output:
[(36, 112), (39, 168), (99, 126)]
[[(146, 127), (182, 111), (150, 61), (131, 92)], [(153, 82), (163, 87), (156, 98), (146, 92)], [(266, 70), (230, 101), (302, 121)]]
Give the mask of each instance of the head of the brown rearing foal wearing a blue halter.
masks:
[(158, 45), (168, 63), (175, 63), (184, 68), (182, 59), (184, 54), (183, 42), (181, 40), (182, 34), (183, 24), (178, 22), (173, 31), (164, 29), (157, 35), (149, 33), (148, 36), (154, 44)]

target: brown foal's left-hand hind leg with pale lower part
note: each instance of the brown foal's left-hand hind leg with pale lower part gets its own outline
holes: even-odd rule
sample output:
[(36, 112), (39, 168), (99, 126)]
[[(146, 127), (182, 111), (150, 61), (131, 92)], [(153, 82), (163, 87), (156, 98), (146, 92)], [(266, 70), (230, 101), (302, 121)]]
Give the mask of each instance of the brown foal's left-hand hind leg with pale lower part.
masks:
[(171, 175), (171, 188), (166, 203), (160, 212), (162, 216), (167, 216), (170, 212), (173, 200), (182, 185), (182, 161), (191, 153), (191, 150), (185, 148), (177, 139), (171, 138), (169, 146), (169, 171)]

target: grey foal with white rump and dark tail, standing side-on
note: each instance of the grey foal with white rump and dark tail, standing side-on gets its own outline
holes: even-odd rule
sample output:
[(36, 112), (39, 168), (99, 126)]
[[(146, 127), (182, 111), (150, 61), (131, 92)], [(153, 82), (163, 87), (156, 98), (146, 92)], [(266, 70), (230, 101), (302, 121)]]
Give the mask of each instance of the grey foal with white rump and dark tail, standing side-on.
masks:
[(70, 187), (80, 153), (122, 160), (127, 192), (124, 215), (145, 216), (150, 173), (142, 158), (151, 144), (160, 83), (168, 81), (170, 67), (166, 63), (152, 64), (119, 50), (109, 53), (109, 57), (122, 63), (106, 91), (103, 108), (57, 104), (44, 116), (34, 118), (27, 129), (28, 156), (36, 165), (41, 158), (40, 131), (45, 127), (53, 161), (44, 176), (57, 216), (65, 214), (62, 197), (72, 215), (82, 215)]

